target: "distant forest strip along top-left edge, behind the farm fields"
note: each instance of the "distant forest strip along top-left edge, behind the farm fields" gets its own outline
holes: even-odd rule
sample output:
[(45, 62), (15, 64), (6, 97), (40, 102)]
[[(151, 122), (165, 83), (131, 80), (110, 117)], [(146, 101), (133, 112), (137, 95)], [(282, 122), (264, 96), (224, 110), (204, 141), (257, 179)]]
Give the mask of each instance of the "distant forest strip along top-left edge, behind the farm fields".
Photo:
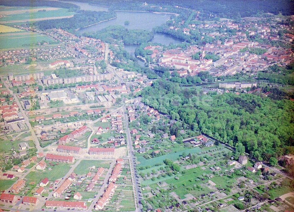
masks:
[(38, 0), (38, 1), (29, 1), (29, 0), (22, 0), (22, 1), (11, 1), (11, 0), (1, 0), (0, 5), (3, 6), (49, 6), (49, 7), (61, 7), (61, 8), (76, 8), (79, 9), (80, 7), (76, 4), (70, 4), (60, 1), (45, 1), (45, 0)]

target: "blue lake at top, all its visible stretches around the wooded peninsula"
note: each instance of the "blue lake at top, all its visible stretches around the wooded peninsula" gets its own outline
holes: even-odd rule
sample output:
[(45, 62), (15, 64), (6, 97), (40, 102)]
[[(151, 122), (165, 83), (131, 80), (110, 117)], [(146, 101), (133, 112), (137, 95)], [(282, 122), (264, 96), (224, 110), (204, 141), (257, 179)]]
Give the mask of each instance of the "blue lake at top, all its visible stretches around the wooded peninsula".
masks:
[[(93, 5), (83, 2), (76, 1), (63, 1), (72, 4), (76, 4), (81, 7), (83, 10), (92, 10), (92, 11), (108, 11), (108, 7)], [(157, 14), (152, 12), (132, 12), (132, 11), (115, 11), (117, 16), (115, 19), (104, 21), (99, 24), (95, 24), (89, 27), (82, 28), (78, 30), (79, 33), (83, 32), (96, 32), (108, 26), (121, 25), (128, 29), (145, 29), (152, 30), (153, 27), (160, 26), (164, 24), (168, 19), (170, 19), (171, 14)], [(129, 21), (128, 25), (124, 25), (125, 21)], [(181, 40), (168, 36), (166, 34), (155, 33), (153, 39), (150, 42), (159, 43), (163, 45), (180, 44)], [(134, 52), (138, 45), (126, 45), (125, 49), (127, 52), (134, 56)], [(144, 63), (138, 59), (140, 65)]]

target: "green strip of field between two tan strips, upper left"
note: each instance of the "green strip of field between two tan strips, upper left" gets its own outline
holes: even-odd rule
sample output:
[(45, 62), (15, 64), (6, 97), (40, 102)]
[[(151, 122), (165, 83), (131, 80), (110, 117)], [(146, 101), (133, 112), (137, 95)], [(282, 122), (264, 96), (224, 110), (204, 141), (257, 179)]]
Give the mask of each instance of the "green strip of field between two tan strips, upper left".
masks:
[(40, 19), (40, 18), (51, 18), (51, 17), (62, 17), (74, 15), (73, 12), (68, 12), (68, 9), (48, 10), (48, 11), (37, 11), (37, 12), (25, 12), (21, 14), (11, 14), (0, 18), (0, 22), (19, 22), (22, 20)]

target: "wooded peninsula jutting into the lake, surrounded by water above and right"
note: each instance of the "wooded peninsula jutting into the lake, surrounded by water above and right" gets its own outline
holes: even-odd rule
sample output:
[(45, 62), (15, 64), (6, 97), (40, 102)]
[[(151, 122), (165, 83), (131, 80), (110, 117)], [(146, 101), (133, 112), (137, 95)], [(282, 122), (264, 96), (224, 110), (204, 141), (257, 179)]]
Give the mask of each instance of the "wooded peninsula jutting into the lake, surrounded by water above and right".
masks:
[(141, 44), (153, 38), (153, 32), (141, 29), (127, 29), (123, 26), (109, 26), (98, 32), (86, 32), (86, 37), (101, 39), (114, 43), (113, 39), (122, 40), (124, 44)]

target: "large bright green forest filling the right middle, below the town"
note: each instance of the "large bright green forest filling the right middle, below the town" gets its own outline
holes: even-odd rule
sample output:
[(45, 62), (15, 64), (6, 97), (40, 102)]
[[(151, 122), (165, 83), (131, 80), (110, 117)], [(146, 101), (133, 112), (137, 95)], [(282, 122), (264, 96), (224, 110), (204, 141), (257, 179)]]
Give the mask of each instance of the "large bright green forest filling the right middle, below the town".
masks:
[[(294, 145), (294, 102), (253, 94), (203, 95), (196, 88), (157, 80), (141, 92), (142, 101), (179, 120), (184, 129), (202, 132), (252, 158), (280, 157)], [(176, 125), (176, 133), (182, 127)]]

